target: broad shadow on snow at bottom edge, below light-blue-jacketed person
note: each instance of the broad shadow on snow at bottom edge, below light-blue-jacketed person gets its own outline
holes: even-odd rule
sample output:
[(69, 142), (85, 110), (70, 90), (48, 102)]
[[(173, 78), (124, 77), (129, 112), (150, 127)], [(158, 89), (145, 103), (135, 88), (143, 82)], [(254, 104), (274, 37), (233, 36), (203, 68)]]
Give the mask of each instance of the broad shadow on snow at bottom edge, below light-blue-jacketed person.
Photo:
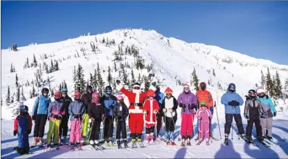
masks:
[(214, 158), (241, 158), (240, 153), (237, 153), (233, 147), (233, 143), (229, 140), (229, 145), (221, 144), (219, 151)]

